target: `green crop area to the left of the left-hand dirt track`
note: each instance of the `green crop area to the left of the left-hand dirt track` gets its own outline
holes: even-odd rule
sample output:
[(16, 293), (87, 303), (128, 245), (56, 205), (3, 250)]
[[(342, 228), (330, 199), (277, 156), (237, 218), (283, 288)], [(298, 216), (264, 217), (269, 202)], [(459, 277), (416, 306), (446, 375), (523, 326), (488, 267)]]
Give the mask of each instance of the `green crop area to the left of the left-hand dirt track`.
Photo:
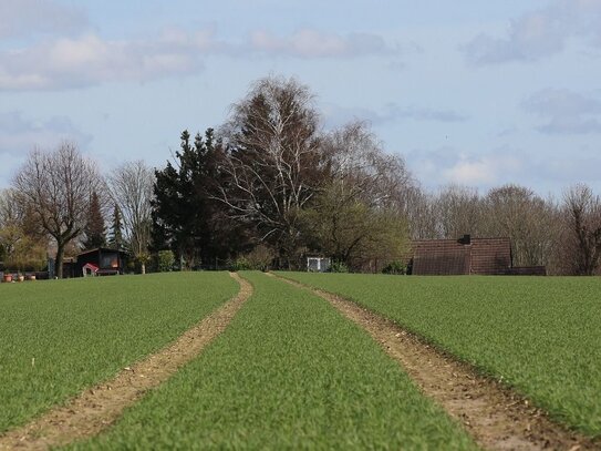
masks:
[(0, 284), (0, 433), (164, 347), (238, 288), (227, 273)]

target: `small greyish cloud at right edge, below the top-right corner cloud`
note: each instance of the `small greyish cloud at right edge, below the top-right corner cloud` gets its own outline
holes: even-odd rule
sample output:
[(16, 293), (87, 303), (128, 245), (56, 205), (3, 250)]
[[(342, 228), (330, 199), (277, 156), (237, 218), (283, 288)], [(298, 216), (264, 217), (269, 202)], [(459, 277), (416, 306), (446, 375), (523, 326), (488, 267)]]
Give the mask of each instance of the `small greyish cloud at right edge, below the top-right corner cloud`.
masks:
[(570, 90), (546, 89), (522, 102), (522, 109), (542, 117), (547, 134), (601, 133), (601, 100)]

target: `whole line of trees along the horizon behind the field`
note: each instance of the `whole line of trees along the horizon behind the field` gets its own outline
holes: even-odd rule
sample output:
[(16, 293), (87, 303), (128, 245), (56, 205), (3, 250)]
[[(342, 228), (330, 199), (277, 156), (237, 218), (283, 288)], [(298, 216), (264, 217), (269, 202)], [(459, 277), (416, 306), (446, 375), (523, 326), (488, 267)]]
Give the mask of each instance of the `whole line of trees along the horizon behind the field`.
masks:
[(281, 78), (253, 83), (217, 130), (184, 131), (165, 167), (136, 161), (103, 175), (63, 143), (33, 151), (0, 193), (0, 260), (38, 269), (50, 246), (59, 277), (64, 255), (105, 245), (127, 249), (141, 273), (294, 269), (312, 254), (374, 270), (403, 262), (411, 239), (464, 234), (510, 237), (516, 266), (592, 275), (601, 201), (581, 184), (561, 199), (518, 185), (427, 192), (367, 123), (324, 131), (309, 88)]

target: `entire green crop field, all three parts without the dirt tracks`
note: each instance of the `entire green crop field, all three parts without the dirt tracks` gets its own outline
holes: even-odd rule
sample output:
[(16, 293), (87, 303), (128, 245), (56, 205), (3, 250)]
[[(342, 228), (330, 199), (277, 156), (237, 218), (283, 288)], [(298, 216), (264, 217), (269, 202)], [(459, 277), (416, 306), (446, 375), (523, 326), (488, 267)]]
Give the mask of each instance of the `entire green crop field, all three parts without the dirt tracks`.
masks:
[[(601, 278), (279, 273), (386, 316), (601, 437)], [(475, 449), (370, 336), (260, 273), (203, 353), (76, 449)], [(230, 299), (227, 273), (0, 285), (0, 434)]]

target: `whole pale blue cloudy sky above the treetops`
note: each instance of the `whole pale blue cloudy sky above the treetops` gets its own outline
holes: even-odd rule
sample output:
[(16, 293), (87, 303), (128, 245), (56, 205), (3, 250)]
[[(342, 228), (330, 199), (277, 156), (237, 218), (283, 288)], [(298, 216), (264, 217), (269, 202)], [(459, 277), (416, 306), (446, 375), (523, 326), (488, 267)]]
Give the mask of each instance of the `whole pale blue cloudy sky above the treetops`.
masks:
[(0, 0), (0, 188), (65, 140), (164, 167), (269, 75), (432, 192), (601, 193), (601, 0)]

